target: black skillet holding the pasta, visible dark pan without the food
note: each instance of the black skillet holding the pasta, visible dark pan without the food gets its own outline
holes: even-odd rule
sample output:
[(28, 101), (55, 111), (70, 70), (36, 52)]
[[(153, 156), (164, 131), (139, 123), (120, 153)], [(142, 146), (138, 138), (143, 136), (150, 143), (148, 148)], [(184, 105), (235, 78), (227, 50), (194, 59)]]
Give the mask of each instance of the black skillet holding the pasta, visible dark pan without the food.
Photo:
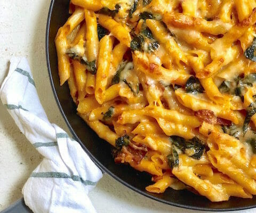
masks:
[(150, 176), (140, 173), (125, 165), (116, 165), (111, 156), (111, 146), (98, 137), (93, 130), (76, 114), (67, 83), (60, 86), (58, 76), (57, 53), (54, 38), (59, 27), (69, 17), (69, 0), (52, 0), (46, 29), (46, 60), (49, 70), (52, 90), (62, 116), (82, 148), (91, 157), (93, 162), (103, 171), (114, 177), (130, 189), (151, 199), (195, 210), (230, 211), (256, 207), (256, 196), (253, 199), (231, 198), (229, 201), (213, 203), (203, 196), (195, 195), (187, 190), (175, 191), (167, 189), (163, 194), (153, 194), (145, 190), (151, 184)]

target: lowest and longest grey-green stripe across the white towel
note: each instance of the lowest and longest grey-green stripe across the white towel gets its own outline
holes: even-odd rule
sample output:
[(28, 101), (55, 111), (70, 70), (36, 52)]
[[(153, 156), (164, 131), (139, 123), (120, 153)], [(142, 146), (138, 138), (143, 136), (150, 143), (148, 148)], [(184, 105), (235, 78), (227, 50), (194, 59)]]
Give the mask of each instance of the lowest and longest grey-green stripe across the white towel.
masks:
[(70, 178), (73, 179), (73, 181), (78, 181), (83, 183), (84, 185), (91, 185), (95, 186), (97, 182), (92, 182), (92, 181), (84, 181), (81, 177), (77, 175), (68, 175), (66, 173), (59, 173), (55, 171), (49, 171), (46, 173), (32, 173), (30, 177), (42, 177), (42, 178)]

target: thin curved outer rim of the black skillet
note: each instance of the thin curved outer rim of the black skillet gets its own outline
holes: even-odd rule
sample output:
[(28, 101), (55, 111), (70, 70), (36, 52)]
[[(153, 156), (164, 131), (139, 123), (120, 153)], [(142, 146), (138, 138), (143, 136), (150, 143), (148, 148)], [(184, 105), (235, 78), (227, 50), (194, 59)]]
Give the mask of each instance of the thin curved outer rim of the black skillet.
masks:
[[(179, 204), (179, 203), (175, 203), (175, 202), (171, 202), (171, 201), (166, 201), (160, 198), (157, 198), (151, 194), (147, 194), (139, 189), (137, 189), (136, 187), (130, 185), (129, 183), (126, 183), (125, 181), (123, 181), (123, 179), (117, 177), (114, 173), (112, 173), (111, 171), (109, 171), (105, 166), (103, 166), (97, 158), (95, 158), (93, 156), (93, 154), (90, 153), (89, 150), (87, 150), (86, 146), (82, 143), (82, 141), (77, 137), (74, 129), (71, 127), (71, 125), (69, 124), (69, 121), (66, 117), (65, 112), (62, 109), (62, 106), (60, 104), (60, 101), (58, 99), (58, 95), (56, 92), (56, 89), (54, 87), (54, 83), (53, 83), (53, 78), (52, 78), (52, 71), (51, 71), (51, 65), (50, 65), (50, 51), (49, 51), (49, 43), (50, 43), (50, 27), (51, 27), (51, 18), (52, 18), (52, 10), (53, 10), (53, 6), (54, 6), (55, 0), (51, 0), (51, 4), (50, 4), (50, 9), (49, 9), (49, 13), (47, 16), (47, 23), (46, 23), (46, 37), (45, 37), (45, 52), (46, 52), (46, 63), (47, 63), (47, 70), (49, 73), (49, 77), (50, 77), (50, 83), (51, 83), (51, 87), (52, 87), (52, 92), (55, 98), (55, 101), (57, 102), (58, 108), (62, 114), (62, 117), (64, 118), (71, 134), (73, 135), (73, 137), (75, 138), (75, 140), (82, 146), (82, 148), (84, 149), (84, 151), (86, 152), (86, 154), (89, 155), (89, 157), (92, 159), (92, 161), (101, 169), (102, 173), (107, 173), (108, 175), (110, 175), (111, 177), (113, 177), (114, 179), (116, 179), (119, 183), (122, 183), (123, 185), (125, 185), (126, 187), (128, 187), (129, 189), (142, 194), (150, 199), (153, 199), (155, 201), (161, 202), (161, 203), (165, 203), (165, 204), (169, 204), (171, 206), (174, 207), (180, 207), (180, 208), (185, 208), (185, 209), (190, 209), (190, 210), (199, 210), (199, 211), (238, 211), (238, 210), (245, 210), (245, 209), (252, 209), (252, 208), (256, 208), (256, 203), (253, 205), (249, 205), (246, 207), (234, 207), (234, 208), (205, 208), (205, 207), (196, 207), (196, 206), (190, 206), (190, 205), (185, 205), (185, 204)], [(93, 131), (93, 130), (92, 130)]]

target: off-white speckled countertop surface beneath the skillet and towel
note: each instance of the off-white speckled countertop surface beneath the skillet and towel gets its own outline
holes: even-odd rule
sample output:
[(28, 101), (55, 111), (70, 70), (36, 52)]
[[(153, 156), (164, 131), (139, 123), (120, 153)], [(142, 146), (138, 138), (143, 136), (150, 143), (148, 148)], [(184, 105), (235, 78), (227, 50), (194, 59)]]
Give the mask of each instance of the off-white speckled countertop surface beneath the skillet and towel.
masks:
[[(12, 55), (26, 56), (37, 92), (51, 122), (68, 132), (55, 102), (45, 60), (45, 28), (50, 0), (0, 0), (0, 84)], [(42, 157), (22, 135), (0, 102), (0, 211), (21, 198), (21, 189)], [(90, 192), (100, 212), (185, 212), (133, 192), (112, 177), (104, 175)], [(244, 210), (253, 213), (256, 209)], [(242, 212), (242, 211), (236, 211)]]

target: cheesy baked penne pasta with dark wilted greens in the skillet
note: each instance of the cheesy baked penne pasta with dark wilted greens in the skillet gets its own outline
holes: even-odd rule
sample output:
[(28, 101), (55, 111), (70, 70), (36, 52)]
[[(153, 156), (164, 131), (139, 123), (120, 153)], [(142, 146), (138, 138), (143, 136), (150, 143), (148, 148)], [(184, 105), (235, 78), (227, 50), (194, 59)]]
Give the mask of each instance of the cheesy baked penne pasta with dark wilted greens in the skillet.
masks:
[(256, 2), (71, 0), (60, 84), (148, 192), (256, 194)]

